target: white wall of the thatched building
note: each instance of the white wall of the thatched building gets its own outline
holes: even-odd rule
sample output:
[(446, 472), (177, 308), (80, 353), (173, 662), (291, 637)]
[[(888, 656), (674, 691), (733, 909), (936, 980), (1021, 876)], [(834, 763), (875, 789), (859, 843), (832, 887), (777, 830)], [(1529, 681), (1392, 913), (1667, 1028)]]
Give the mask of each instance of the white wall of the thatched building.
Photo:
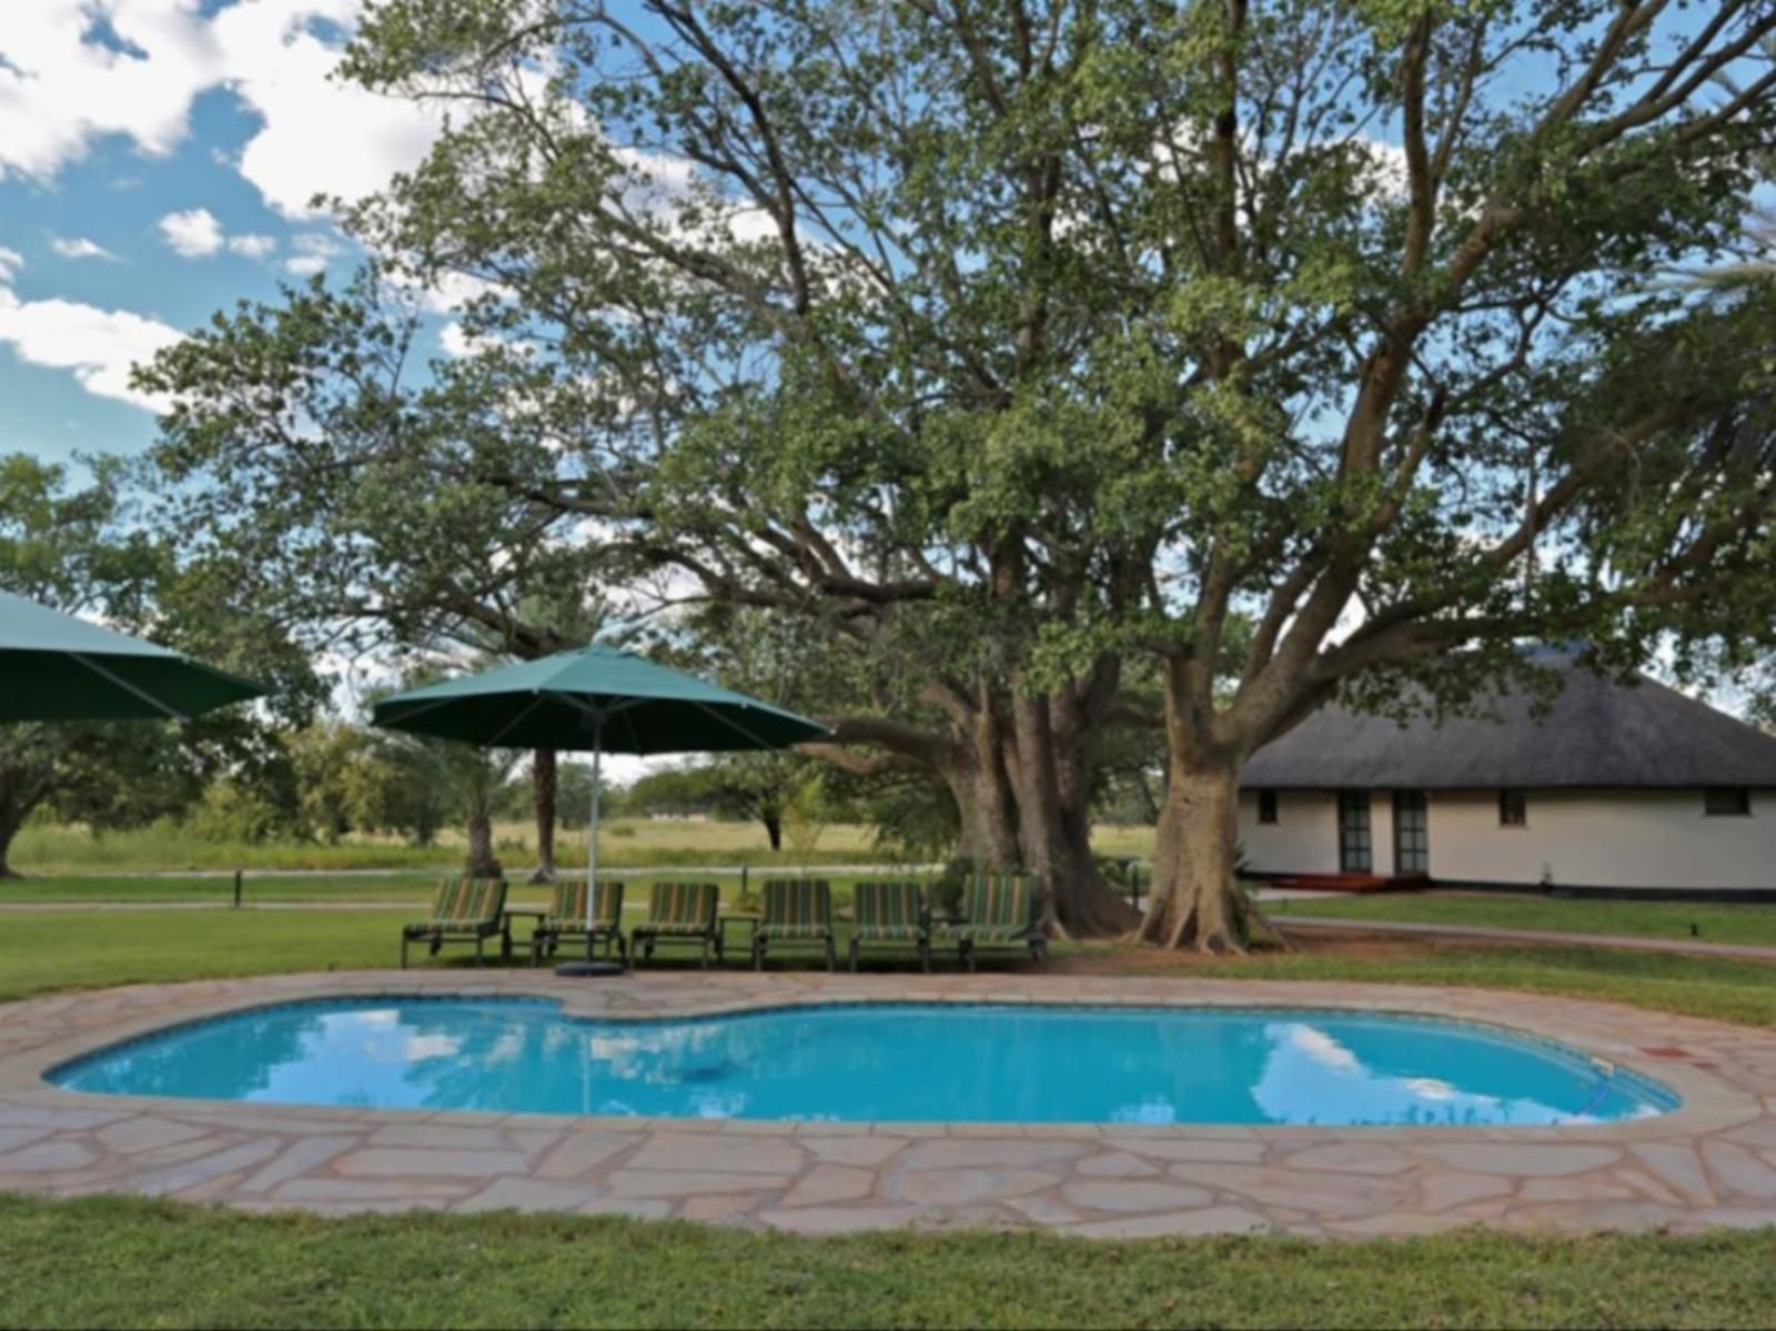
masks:
[[(1394, 871), (1392, 793), (1373, 791), (1375, 873)], [(1531, 791), (1527, 826), (1499, 826), (1497, 791), (1431, 791), (1431, 878), (1559, 887), (1776, 889), (1776, 791), (1749, 817), (1709, 817), (1701, 791)], [(1279, 791), (1277, 821), (1240, 794), (1240, 844), (1259, 873), (1337, 873), (1337, 796)]]

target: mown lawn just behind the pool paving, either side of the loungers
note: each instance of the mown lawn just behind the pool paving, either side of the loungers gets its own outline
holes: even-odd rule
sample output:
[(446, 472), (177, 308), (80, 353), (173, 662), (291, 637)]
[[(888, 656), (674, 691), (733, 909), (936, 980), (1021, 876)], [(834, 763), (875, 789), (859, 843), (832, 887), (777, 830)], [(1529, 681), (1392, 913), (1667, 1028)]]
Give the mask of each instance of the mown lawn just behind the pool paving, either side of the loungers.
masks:
[[(392, 967), (400, 924), (414, 910), (256, 912), (131, 910), (28, 912), (0, 917), (0, 1000), (55, 990), (165, 983), (297, 970)], [(634, 917), (630, 917), (634, 919)], [(526, 926), (519, 926), (524, 954)], [(1298, 951), (1229, 961), (1197, 961), (1131, 952), (1117, 945), (1058, 944), (1058, 968), (1142, 970), (1240, 979), (1321, 979), (1398, 984), (1455, 984), (1611, 999), (1637, 1008), (1776, 1025), (1776, 970), (1755, 961), (1611, 952), (1597, 947), (1439, 947), (1389, 954)], [(840, 956), (844, 926), (840, 926)], [(730, 926), (730, 963), (746, 956), (746, 931)], [(810, 965), (806, 952), (797, 965)], [(948, 949), (940, 967), (954, 965)], [(469, 965), (460, 949), (440, 961)], [(696, 965), (662, 960), (662, 965)], [(778, 963), (773, 963), (778, 965)], [(904, 965), (911, 967), (911, 951)], [(1003, 965), (987, 961), (984, 965)]]

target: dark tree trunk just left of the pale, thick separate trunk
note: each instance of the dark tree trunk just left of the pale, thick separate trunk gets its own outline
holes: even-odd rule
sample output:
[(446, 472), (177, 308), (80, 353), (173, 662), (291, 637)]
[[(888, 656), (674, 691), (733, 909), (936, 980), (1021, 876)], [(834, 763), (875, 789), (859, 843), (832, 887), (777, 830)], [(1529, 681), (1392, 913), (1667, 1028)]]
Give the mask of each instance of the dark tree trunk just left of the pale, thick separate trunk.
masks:
[[(1055, 743), (1055, 704), (1051, 697), (1014, 702), (1023, 865), (1043, 885), (1050, 929), (1073, 938), (1128, 933), (1138, 917), (1098, 873), (1085, 809), (1089, 782), (1083, 773), (1062, 773), (1062, 766), (1085, 759), (1071, 743), (1066, 750)], [(1069, 732), (1069, 739), (1076, 736)]]

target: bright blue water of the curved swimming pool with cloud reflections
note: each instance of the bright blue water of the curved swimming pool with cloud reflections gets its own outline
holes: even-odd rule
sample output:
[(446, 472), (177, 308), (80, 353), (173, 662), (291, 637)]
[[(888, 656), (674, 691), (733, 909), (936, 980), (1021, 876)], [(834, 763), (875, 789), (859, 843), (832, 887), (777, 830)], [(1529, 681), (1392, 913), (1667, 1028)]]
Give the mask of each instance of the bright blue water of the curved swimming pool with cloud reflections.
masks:
[(71, 1091), (366, 1109), (1023, 1123), (1595, 1123), (1677, 1107), (1575, 1050), (1421, 1016), (808, 1006), (591, 1022), (543, 1000), (261, 1008), (101, 1050)]

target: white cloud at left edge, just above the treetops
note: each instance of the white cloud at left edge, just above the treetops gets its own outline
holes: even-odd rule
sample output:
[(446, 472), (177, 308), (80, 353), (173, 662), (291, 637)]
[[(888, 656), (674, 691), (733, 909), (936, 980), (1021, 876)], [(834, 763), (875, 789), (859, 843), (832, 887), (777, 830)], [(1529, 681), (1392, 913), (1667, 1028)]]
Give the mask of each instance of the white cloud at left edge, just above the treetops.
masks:
[[(4, 254), (11, 251), (0, 251)], [(130, 366), (181, 336), (160, 320), (126, 309), (99, 309), (75, 300), (20, 300), (0, 284), (0, 345), (11, 347), (28, 364), (71, 371), (87, 393), (101, 398), (160, 410), (165, 403), (130, 386)]]

